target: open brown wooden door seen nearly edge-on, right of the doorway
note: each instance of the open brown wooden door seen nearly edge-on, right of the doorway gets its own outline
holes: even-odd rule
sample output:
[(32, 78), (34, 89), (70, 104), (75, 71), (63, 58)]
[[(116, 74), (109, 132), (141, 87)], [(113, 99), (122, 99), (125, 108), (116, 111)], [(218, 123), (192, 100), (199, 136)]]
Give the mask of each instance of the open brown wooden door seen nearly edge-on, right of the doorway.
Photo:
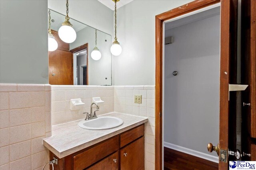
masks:
[(220, 11), (220, 153), (219, 170), (228, 170), (228, 149), (234, 150), (236, 130), (236, 92), (229, 92), (229, 84), (236, 84), (237, 0), (221, 0)]

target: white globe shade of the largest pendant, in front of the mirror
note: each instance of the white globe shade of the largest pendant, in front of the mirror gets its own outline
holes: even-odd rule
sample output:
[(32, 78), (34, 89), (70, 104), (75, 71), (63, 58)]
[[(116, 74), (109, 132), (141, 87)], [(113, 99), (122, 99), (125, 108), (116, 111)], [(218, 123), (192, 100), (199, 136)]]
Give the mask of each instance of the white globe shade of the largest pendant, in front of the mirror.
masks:
[(60, 39), (65, 43), (73, 43), (76, 40), (76, 31), (68, 25), (62, 25), (58, 34)]

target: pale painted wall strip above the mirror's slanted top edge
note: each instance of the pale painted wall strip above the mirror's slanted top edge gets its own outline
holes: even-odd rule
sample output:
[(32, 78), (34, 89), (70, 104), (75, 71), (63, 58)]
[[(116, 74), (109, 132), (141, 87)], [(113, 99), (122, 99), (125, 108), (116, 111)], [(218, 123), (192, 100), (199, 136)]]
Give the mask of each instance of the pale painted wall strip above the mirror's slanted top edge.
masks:
[[(70, 0), (69, 17), (110, 35), (113, 33), (113, 11), (97, 0)], [(48, 8), (66, 15), (66, 0), (48, 0)]]

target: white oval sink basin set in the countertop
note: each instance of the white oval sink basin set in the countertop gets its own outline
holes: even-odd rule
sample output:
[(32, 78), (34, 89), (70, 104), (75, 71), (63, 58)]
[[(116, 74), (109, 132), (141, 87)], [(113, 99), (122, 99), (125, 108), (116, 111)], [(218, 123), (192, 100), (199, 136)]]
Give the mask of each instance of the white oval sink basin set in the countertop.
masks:
[(82, 120), (78, 123), (78, 126), (84, 129), (110, 129), (123, 123), (124, 121), (117, 117), (100, 116), (92, 120)]

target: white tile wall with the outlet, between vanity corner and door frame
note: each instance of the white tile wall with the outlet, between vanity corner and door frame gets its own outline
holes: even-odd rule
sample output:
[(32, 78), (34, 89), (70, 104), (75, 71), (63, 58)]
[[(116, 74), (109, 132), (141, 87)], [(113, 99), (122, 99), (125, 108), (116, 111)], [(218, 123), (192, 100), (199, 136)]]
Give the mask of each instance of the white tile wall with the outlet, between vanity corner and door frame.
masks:
[[(134, 95), (142, 103), (134, 103)], [(155, 86), (114, 86), (114, 111), (148, 118), (145, 126), (145, 169), (155, 168)]]

